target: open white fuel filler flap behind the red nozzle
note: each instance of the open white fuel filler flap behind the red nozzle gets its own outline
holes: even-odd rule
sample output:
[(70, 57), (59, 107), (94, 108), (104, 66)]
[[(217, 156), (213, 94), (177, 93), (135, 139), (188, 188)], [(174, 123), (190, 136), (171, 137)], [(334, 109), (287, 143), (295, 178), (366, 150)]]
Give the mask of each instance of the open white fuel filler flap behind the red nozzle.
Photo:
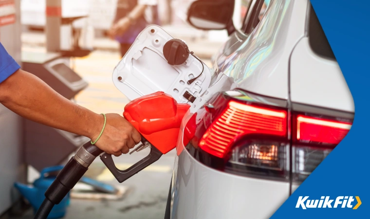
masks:
[[(178, 103), (192, 105), (208, 89), (211, 71), (196, 54), (190, 53), (191, 48), (191, 55), (183, 64), (168, 64), (163, 49), (173, 39), (157, 25), (148, 26), (136, 37), (112, 76), (116, 88), (129, 100), (164, 91)], [(175, 51), (169, 55), (178, 54)]]

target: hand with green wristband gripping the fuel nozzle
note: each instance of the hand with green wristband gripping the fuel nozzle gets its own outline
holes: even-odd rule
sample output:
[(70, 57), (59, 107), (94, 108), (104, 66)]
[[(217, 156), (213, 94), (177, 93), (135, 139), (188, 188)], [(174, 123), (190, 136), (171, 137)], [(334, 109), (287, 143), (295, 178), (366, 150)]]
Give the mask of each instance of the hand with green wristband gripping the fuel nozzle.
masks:
[[(95, 144), (101, 150), (118, 157), (122, 153), (127, 154), (129, 149), (141, 141), (140, 133), (119, 114), (109, 113), (106, 114), (106, 118), (107, 122), (103, 134)], [(99, 124), (96, 128), (98, 131), (95, 131), (96, 134), (91, 138), (92, 141), (96, 140), (103, 128), (104, 118), (102, 115), (96, 119), (96, 124)]]

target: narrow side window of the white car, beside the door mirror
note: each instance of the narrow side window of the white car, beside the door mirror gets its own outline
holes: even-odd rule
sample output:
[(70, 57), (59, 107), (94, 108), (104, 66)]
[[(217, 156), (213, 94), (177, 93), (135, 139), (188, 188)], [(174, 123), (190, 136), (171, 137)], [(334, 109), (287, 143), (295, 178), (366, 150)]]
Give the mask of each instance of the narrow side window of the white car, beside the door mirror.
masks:
[(243, 20), (242, 32), (244, 34), (249, 35), (257, 27), (269, 3), (270, 0), (252, 0), (250, 2), (249, 11)]

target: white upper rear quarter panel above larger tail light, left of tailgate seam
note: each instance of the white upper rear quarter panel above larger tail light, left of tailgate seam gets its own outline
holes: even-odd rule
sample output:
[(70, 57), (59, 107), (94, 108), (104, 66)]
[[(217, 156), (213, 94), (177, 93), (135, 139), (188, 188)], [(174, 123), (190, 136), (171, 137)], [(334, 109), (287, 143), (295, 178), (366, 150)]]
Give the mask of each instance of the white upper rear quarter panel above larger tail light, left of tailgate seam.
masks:
[[(217, 56), (220, 70), (233, 77), (241, 89), (288, 99), (289, 58), (304, 37), (307, 5), (307, 0), (271, 1), (259, 25), (240, 47), (232, 46), (235, 52)], [(239, 36), (234, 33), (232, 38)]]

